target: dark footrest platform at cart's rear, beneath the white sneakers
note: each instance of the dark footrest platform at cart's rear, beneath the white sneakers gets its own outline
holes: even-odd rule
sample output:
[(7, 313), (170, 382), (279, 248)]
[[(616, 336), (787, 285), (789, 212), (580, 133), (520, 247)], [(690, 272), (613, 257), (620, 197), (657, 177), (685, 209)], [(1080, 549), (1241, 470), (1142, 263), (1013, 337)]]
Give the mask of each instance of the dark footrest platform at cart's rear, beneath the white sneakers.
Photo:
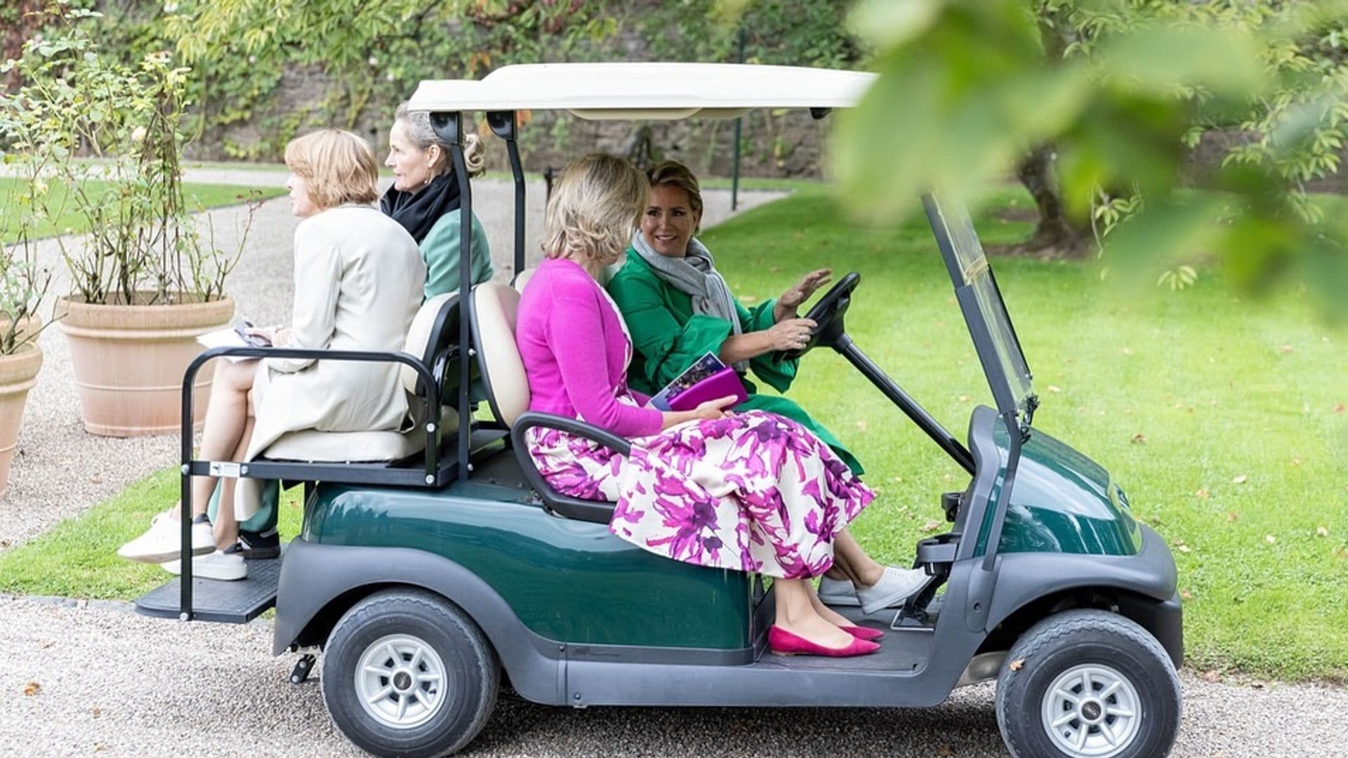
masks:
[[(276, 604), (276, 583), (280, 580), (282, 558), (244, 561), (248, 576), (239, 581), (214, 579), (191, 580), (191, 615), (197, 620), (218, 623), (248, 623)], [(147, 616), (175, 619), (179, 612), (181, 579), (174, 579), (151, 589), (136, 600), (136, 612)]]

